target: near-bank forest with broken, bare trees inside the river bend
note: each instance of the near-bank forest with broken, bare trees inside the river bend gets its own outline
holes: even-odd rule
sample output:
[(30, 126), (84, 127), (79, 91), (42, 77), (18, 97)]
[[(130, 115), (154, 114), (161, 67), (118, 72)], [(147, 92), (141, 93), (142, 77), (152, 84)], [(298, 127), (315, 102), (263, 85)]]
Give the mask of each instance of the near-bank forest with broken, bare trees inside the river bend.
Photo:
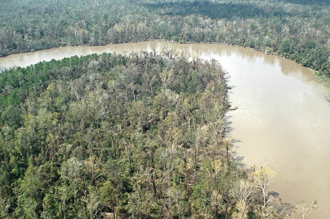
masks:
[(0, 75), (1, 218), (286, 218), (225, 137), (225, 72), (163, 51)]

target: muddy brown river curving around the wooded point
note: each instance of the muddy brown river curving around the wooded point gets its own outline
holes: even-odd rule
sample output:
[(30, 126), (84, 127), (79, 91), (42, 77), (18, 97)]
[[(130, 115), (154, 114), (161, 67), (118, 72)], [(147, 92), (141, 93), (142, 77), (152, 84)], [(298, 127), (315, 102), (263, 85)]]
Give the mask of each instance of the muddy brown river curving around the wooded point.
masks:
[(284, 202), (317, 199), (320, 210), (310, 218), (330, 218), (330, 105), (324, 98), (330, 88), (300, 64), (235, 46), (151, 41), (15, 54), (0, 58), (0, 70), (73, 55), (163, 48), (221, 63), (230, 76), (229, 100), (238, 106), (227, 113), (238, 156), (247, 167), (276, 170), (270, 190)]

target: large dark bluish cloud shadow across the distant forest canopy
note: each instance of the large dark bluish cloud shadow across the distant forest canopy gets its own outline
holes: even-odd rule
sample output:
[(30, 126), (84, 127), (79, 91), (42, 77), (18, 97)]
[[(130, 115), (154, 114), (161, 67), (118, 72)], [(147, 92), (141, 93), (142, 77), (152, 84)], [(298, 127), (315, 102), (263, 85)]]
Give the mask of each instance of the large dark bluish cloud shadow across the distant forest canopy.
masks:
[(142, 4), (143, 7), (156, 11), (159, 15), (189, 16), (202, 15), (211, 19), (252, 18), (283, 16), (286, 12), (265, 10), (252, 3), (213, 3), (210, 1), (157, 2)]

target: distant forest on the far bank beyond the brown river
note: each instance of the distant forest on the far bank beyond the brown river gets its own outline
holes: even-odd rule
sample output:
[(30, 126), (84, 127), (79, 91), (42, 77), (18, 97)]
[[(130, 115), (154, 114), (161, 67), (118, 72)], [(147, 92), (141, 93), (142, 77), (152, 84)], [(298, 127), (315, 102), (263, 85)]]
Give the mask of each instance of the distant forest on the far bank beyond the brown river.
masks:
[(330, 77), (330, 4), (274, 1), (3, 1), (0, 55), (152, 39), (285, 56)]

